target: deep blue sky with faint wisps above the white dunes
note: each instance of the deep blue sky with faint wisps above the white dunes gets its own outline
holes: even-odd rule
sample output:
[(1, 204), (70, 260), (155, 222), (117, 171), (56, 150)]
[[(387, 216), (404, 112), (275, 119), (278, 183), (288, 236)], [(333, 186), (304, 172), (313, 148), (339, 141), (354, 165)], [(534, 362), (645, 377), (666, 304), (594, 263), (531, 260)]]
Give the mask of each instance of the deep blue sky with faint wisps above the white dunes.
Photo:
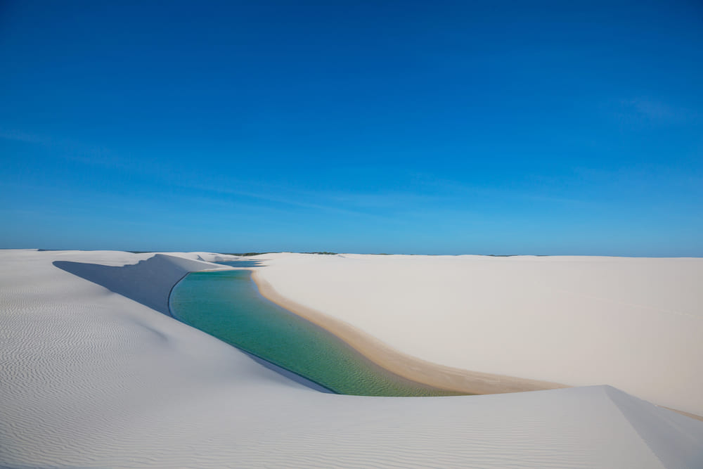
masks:
[(0, 2), (0, 248), (703, 256), (700, 1)]

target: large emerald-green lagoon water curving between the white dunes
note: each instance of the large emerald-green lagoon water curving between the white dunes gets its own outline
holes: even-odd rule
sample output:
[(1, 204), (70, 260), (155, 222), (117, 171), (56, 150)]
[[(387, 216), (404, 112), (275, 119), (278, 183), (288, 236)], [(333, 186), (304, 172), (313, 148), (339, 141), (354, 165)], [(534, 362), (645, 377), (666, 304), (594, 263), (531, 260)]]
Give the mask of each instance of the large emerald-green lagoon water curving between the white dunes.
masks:
[(266, 300), (251, 272), (193, 272), (174, 287), (172, 314), (339, 394), (449, 396), (373, 364), (323, 328)]

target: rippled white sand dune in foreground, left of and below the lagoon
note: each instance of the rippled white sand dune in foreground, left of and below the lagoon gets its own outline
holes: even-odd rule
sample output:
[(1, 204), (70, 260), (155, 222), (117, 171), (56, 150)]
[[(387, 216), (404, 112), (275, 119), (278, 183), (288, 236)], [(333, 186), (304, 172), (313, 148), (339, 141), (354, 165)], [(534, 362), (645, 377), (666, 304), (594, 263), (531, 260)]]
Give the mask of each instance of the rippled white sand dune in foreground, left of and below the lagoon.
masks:
[[(304, 257), (274, 257), (260, 274), (285, 290), (285, 259)], [(0, 466), (703, 465), (703, 422), (609, 386), (432, 398), (302, 387), (159, 312), (183, 274), (222, 258), (0, 251)]]

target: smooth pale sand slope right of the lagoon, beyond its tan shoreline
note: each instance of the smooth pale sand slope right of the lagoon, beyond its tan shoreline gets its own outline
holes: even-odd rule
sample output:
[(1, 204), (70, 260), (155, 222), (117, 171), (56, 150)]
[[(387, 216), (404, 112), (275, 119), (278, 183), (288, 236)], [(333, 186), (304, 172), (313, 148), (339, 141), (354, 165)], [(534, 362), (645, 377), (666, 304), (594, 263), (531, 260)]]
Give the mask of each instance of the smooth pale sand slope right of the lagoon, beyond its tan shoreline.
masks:
[(443, 366), (703, 415), (703, 259), (272, 254), (303, 307)]

